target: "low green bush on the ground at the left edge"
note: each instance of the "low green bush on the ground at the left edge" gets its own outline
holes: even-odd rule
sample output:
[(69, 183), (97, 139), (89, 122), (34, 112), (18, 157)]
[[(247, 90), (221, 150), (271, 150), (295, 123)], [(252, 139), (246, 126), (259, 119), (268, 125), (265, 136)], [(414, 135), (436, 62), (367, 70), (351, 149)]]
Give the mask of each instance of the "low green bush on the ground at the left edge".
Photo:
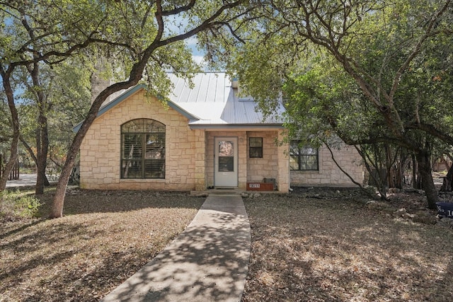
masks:
[(40, 200), (21, 192), (0, 192), (0, 217), (6, 219), (31, 219), (38, 215)]

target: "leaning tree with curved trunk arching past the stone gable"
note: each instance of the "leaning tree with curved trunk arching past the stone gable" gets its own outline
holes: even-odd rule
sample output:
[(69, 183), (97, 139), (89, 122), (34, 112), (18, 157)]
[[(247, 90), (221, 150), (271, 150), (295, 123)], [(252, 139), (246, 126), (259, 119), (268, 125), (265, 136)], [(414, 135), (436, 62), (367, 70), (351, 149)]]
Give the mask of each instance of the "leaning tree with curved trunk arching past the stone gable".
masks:
[[(122, 50), (132, 66), (127, 70), (127, 80), (113, 83), (105, 88), (93, 101), (84, 122), (81, 124), (67, 154), (62, 173), (57, 184), (51, 217), (63, 214), (64, 195), (67, 182), (74, 166), (76, 153), (88, 128), (96, 118), (101, 104), (109, 95), (136, 85), (145, 73), (149, 89), (154, 95), (166, 95), (170, 83), (165, 81), (165, 70), (174, 69), (180, 74), (195, 70), (195, 65), (183, 40), (193, 37), (203, 30), (228, 25), (239, 18), (243, 11), (249, 9), (251, 1), (187, 1), (183, 4), (154, 1), (151, 3), (117, 3), (112, 4), (120, 12), (112, 28), (117, 33), (117, 42), (108, 43)], [(183, 17), (187, 26), (179, 26), (175, 32), (167, 26), (175, 18)], [(173, 21), (172, 21), (173, 20)]]

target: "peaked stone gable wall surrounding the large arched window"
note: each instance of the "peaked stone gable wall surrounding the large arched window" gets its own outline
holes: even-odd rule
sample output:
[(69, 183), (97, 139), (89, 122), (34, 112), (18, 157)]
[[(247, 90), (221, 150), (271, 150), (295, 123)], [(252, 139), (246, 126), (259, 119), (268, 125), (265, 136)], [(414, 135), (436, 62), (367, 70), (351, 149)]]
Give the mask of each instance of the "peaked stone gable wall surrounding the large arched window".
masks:
[[(121, 125), (146, 118), (166, 125), (165, 179), (120, 179)], [(200, 133), (201, 132), (201, 133)], [(201, 137), (196, 137), (200, 136)], [(98, 117), (80, 148), (80, 180), (85, 189), (195, 190), (204, 182), (204, 134), (188, 119), (140, 90)], [(200, 154), (201, 153), (201, 154)], [(201, 163), (200, 163), (201, 162)], [(195, 169), (196, 167), (196, 169)], [(204, 185), (202, 185), (205, 187)]]

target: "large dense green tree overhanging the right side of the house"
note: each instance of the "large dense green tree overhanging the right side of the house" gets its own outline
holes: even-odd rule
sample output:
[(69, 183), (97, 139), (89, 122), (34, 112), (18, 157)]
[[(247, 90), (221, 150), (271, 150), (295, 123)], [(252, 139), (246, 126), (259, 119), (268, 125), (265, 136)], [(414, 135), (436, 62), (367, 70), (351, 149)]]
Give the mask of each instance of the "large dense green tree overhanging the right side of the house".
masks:
[[(451, 123), (439, 119), (452, 111), (427, 86), (442, 74), (436, 45), (452, 45), (451, 1), (263, 1), (253, 16), (229, 66), (260, 107), (272, 109), (270, 100), (286, 83), (295, 88), (288, 95), (297, 104), (292, 120), (310, 112), (318, 133), (335, 132), (346, 144), (410, 151), (428, 207), (435, 208), (430, 146), (435, 139), (453, 145)], [(426, 73), (426, 62), (440, 74)]]

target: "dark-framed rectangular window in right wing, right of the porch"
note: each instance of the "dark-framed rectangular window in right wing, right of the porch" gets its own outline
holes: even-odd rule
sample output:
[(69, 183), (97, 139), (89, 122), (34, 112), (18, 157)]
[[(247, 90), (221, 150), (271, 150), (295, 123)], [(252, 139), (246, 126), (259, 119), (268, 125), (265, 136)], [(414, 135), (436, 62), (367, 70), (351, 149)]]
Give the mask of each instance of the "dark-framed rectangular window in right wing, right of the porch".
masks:
[(289, 168), (291, 170), (319, 170), (318, 149), (300, 146), (300, 141), (291, 141), (289, 146)]

